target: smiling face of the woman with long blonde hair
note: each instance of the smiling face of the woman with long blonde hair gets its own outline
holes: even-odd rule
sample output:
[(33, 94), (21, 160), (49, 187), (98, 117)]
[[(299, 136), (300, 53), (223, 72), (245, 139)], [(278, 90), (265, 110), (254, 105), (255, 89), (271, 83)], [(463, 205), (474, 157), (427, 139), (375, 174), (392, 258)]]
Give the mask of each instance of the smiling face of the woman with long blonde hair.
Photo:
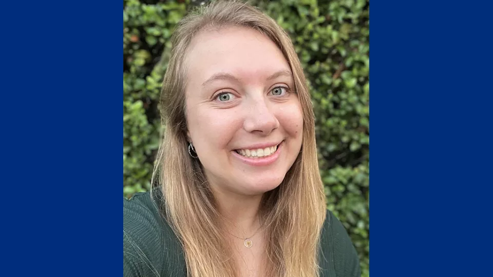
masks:
[(186, 115), (213, 190), (257, 195), (279, 186), (302, 143), (288, 62), (247, 28), (203, 31), (187, 55)]

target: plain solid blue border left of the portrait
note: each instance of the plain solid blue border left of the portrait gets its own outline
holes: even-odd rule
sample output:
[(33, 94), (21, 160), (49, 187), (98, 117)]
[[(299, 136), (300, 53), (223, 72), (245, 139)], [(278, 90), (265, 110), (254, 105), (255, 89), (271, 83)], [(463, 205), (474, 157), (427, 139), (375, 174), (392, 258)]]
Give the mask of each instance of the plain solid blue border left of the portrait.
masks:
[(121, 11), (105, 1), (9, 5), (2, 275), (117, 275)]

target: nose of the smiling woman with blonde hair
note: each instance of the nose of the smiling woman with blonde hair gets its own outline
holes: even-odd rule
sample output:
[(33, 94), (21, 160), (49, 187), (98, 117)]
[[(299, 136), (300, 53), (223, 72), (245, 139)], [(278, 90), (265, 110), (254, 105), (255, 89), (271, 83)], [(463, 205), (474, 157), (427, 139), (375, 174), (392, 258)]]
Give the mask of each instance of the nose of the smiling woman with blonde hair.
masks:
[(252, 101), (249, 106), (243, 123), (243, 128), (247, 132), (269, 135), (279, 128), (279, 121), (274, 114), (273, 107), (266, 103), (266, 100)]

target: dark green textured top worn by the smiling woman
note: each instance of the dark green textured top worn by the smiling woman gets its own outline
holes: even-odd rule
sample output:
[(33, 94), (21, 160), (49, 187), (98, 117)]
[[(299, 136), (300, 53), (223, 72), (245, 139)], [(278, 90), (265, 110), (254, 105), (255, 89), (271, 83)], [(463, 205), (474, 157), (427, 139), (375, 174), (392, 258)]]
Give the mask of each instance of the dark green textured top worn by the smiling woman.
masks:
[[(181, 245), (150, 193), (123, 199), (123, 276), (186, 277)], [(361, 276), (356, 250), (344, 226), (327, 211), (321, 236), (321, 277)]]

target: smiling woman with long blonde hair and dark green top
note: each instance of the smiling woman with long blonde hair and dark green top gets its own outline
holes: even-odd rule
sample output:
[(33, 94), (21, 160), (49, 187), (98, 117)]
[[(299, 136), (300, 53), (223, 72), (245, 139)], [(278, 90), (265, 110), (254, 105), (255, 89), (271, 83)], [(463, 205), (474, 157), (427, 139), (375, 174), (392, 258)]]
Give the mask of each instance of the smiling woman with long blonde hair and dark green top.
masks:
[(221, 1), (172, 39), (160, 186), (123, 201), (123, 275), (359, 276), (326, 209), (289, 36), (257, 9)]

